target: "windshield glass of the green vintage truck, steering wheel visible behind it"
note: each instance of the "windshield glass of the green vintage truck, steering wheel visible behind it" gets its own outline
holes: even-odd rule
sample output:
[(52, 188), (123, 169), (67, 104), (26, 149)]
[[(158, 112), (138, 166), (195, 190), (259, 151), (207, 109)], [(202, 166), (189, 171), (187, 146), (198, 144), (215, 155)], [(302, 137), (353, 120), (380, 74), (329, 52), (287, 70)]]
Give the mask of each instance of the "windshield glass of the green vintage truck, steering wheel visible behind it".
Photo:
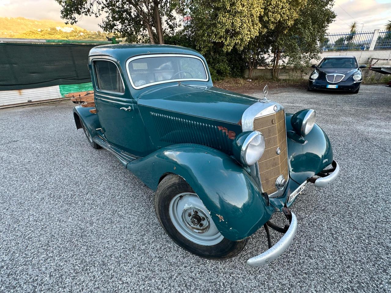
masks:
[(128, 73), (136, 89), (177, 80), (208, 80), (201, 58), (191, 55), (136, 57), (128, 61)]

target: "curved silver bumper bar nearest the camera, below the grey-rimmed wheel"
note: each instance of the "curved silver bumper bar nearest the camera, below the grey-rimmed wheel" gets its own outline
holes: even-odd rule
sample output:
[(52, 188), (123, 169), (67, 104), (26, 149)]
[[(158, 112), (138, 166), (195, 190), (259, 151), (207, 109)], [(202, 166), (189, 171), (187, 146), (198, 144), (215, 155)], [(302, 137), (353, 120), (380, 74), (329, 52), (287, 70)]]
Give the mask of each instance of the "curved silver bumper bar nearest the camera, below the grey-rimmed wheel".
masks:
[(289, 225), (289, 229), (287, 232), (282, 236), (280, 240), (276, 244), (274, 244), (271, 248), (266, 250), (264, 253), (251, 257), (247, 264), (249, 266), (263, 266), (264, 264), (270, 263), (271, 261), (274, 261), (277, 257), (279, 257), (287, 248), (289, 245), (291, 245), (291, 242), (296, 234), (297, 229), (297, 218), (296, 215), (291, 211), (292, 213), (292, 221)]

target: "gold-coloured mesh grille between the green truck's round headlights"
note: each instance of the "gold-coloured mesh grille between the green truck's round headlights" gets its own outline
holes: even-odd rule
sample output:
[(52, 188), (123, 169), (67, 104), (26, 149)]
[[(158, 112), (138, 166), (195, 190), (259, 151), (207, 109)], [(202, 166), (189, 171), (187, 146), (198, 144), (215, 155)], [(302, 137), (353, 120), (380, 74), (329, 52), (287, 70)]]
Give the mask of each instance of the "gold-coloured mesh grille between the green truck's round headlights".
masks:
[[(280, 175), (288, 179), (287, 134), (285, 130), (285, 113), (277, 113), (254, 119), (253, 129), (262, 133), (265, 138), (265, 151), (258, 160), (258, 169), (262, 189), (268, 195), (277, 191), (276, 180)], [(280, 155), (277, 155), (280, 148)]]

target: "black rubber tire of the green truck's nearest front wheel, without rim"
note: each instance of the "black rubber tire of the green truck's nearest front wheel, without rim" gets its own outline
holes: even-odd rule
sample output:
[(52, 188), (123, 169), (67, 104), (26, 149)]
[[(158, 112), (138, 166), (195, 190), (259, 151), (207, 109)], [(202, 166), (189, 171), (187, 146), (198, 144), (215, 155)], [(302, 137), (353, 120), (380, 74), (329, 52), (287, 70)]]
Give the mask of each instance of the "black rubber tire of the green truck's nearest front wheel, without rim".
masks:
[(170, 238), (172, 238), (180, 247), (192, 254), (207, 259), (228, 259), (239, 254), (239, 252), (241, 252), (246, 246), (247, 239), (231, 241), (224, 238), (221, 242), (215, 245), (205, 246), (188, 240), (176, 229), (170, 219), (169, 204), (172, 198), (183, 192), (194, 193), (194, 190), (178, 175), (169, 174), (161, 180), (155, 193), (154, 204), (156, 215), (158, 216), (161, 226)]

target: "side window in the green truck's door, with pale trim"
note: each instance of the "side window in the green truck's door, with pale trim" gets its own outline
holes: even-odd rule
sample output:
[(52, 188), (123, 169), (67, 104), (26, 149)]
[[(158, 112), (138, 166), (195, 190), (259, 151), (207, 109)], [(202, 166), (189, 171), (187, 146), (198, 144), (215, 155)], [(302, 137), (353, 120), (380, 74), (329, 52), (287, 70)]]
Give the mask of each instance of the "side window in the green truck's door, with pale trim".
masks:
[(97, 87), (102, 91), (115, 91), (124, 93), (124, 84), (117, 65), (108, 60), (93, 61)]

